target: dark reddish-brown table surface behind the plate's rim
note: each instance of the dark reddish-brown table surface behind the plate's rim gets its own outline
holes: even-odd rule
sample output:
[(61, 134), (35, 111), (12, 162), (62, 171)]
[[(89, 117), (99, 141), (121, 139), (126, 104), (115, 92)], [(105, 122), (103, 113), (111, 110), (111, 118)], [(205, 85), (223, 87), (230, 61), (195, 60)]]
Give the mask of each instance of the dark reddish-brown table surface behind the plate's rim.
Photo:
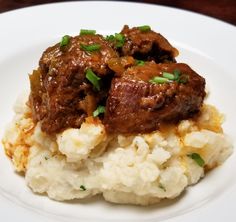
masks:
[[(62, 1), (65, 0), (0, 0), (0, 13), (26, 6)], [(186, 9), (236, 25), (236, 0), (139, 0), (133, 2), (153, 3)]]

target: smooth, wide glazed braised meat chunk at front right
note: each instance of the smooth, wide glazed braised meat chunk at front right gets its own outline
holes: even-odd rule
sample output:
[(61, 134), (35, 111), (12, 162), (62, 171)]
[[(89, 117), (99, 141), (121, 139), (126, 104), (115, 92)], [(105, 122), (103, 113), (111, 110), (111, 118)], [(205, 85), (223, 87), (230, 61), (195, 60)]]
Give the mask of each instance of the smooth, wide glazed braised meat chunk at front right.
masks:
[(128, 68), (112, 80), (104, 123), (110, 133), (147, 133), (189, 118), (205, 97), (205, 80), (182, 63)]

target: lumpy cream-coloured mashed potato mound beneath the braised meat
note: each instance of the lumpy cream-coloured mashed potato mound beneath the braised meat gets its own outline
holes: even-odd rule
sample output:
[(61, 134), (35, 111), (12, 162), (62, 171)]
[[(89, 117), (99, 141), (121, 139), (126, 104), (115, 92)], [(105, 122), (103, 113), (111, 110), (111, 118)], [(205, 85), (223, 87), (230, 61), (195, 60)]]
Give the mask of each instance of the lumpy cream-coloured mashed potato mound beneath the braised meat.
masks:
[(90, 117), (80, 129), (52, 137), (33, 123), (26, 99), (15, 105), (3, 138), (5, 152), (34, 192), (55, 200), (102, 194), (110, 202), (148, 205), (175, 198), (232, 153), (223, 117), (213, 106), (150, 134), (108, 136)]

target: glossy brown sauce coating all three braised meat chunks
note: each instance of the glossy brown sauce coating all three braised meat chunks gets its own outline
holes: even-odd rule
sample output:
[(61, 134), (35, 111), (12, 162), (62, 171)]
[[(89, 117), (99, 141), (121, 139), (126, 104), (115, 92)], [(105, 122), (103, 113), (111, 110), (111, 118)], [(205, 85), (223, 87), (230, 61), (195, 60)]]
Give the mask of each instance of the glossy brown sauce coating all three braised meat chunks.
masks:
[[(46, 49), (29, 76), (29, 104), (44, 132), (79, 128), (99, 105), (106, 107), (99, 118), (107, 131), (124, 134), (151, 132), (163, 122), (199, 111), (205, 80), (188, 65), (176, 63), (177, 49), (152, 30), (124, 26), (118, 35), (124, 38), (119, 47), (101, 35), (88, 34)], [(140, 59), (142, 65), (137, 64)], [(86, 77), (88, 69), (101, 83), (99, 89)], [(187, 83), (150, 82), (176, 69), (188, 76)]]

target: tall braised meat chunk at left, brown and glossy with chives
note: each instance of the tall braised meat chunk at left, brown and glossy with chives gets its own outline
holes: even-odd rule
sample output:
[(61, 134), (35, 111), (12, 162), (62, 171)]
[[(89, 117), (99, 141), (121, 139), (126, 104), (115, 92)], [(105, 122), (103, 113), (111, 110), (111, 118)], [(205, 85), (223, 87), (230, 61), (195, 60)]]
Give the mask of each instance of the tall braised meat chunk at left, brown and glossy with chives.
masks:
[[(110, 85), (106, 82), (112, 78), (107, 62), (117, 57), (110, 43), (95, 34), (65, 36), (49, 47), (30, 76), (30, 105), (42, 130), (56, 133), (80, 127), (106, 97)], [(100, 82), (103, 87), (96, 85)]]

